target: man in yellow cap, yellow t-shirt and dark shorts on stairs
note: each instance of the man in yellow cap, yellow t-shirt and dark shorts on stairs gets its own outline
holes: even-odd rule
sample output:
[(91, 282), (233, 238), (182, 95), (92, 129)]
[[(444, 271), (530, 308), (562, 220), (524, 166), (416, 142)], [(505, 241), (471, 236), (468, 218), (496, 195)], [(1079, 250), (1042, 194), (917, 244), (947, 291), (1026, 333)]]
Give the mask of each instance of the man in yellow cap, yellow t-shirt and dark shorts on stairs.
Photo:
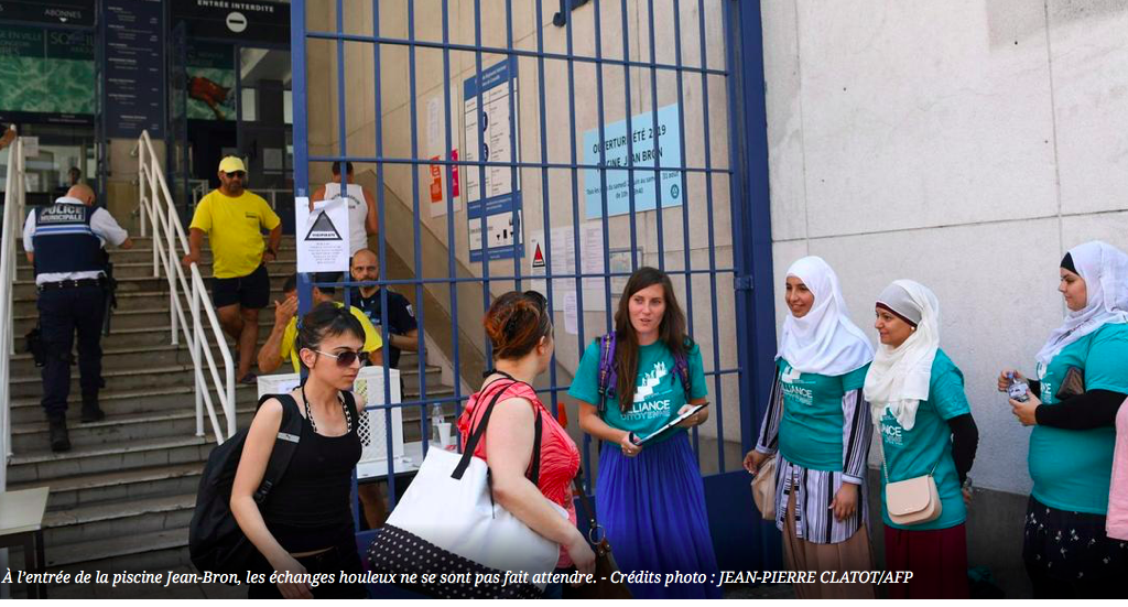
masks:
[[(271, 299), (271, 276), (266, 263), (277, 258), (282, 240), (282, 221), (262, 196), (244, 188), (247, 169), (243, 160), (228, 156), (219, 164), (219, 190), (212, 191), (196, 205), (188, 234), (191, 253), (184, 256), (185, 267), (200, 263), (204, 234), (211, 239), (212, 301), (219, 322), (238, 344), (239, 371), (243, 384), (254, 384), (250, 362), (258, 341), (258, 310)], [(270, 230), (270, 246), (263, 243), (262, 230)]]

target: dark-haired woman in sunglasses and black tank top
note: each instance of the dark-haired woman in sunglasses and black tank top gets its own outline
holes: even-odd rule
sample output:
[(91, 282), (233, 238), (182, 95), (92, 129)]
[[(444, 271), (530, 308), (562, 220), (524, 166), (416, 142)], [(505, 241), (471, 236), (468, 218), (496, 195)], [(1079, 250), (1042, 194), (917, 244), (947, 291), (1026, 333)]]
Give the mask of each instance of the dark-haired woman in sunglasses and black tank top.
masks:
[[(263, 401), (250, 422), (231, 487), (231, 512), (255, 545), (252, 572), (265, 574), (249, 598), (364, 598), (359, 583), (317, 583), (271, 574), (361, 573), (349, 499), (360, 460), (356, 404), (349, 392), (363, 362), (364, 329), (346, 309), (323, 302), (302, 319), (298, 354), (309, 370), (290, 394)], [(256, 503), (287, 415), (303, 419), (298, 447), (270, 498)]]

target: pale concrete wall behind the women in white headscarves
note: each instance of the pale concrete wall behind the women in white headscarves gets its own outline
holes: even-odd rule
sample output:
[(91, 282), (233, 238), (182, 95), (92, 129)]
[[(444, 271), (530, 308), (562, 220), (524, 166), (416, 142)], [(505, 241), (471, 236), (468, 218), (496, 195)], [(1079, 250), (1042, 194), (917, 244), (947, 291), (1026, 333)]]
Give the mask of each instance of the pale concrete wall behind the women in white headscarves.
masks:
[(1128, 2), (778, 0), (761, 12), (777, 288), (792, 261), (821, 255), (869, 328), (890, 281), (931, 287), (980, 428), (971, 475), (1026, 493), (1030, 431), (995, 377), (1031, 372), (1060, 324), (1069, 247), (1128, 248)]

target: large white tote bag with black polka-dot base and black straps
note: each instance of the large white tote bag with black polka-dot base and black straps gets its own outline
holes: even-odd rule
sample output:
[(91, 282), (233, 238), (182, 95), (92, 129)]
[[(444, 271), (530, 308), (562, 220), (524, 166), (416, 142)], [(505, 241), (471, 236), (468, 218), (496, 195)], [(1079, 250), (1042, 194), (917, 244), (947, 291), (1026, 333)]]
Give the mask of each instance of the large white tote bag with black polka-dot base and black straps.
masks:
[[(531, 583), (532, 575), (556, 568), (559, 546), (494, 502), (488, 466), (474, 457), (474, 449), (485, 434), (493, 407), (508, 387), (496, 392), (461, 455), (433, 447), (428, 450), (415, 480), (396, 503), (385, 528), (369, 549), (374, 569), (399, 573), (470, 572), (470, 583), (466, 586), (447, 583), (435, 588), (413, 588), (450, 598), (531, 597), (544, 589), (545, 583)], [(534, 483), (540, 467), (540, 424), (538, 413)], [(547, 499), (545, 501), (567, 519), (563, 508)], [(500, 583), (504, 580), (499, 580), (495, 586), (474, 583), (475, 573), (490, 572), (500, 573), (502, 578), (505, 572), (526, 572), (529, 583), (513, 584), (512, 580), (504, 586)], [(521, 586), (525, 586), (523, 592)]]

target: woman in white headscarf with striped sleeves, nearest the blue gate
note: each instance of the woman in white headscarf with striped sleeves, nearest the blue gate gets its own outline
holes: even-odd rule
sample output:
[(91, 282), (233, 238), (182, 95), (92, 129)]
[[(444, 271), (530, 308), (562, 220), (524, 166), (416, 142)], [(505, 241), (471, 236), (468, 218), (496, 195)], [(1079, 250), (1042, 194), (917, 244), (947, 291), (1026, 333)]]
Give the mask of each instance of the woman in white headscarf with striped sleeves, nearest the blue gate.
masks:
[[(822, 258), (792, 264), (785, 302), (768, 411), (744, 468), (756, 474), (779, 454), (776, 527), (790, 569), (865, 571), (871, 569), (865, 475), (873, 426), (862, 384), (873, 349), (851, 322), (838, 276)], [(795, 592), (874, 598), (873, 587), (861, 583), (801, 583)]]

